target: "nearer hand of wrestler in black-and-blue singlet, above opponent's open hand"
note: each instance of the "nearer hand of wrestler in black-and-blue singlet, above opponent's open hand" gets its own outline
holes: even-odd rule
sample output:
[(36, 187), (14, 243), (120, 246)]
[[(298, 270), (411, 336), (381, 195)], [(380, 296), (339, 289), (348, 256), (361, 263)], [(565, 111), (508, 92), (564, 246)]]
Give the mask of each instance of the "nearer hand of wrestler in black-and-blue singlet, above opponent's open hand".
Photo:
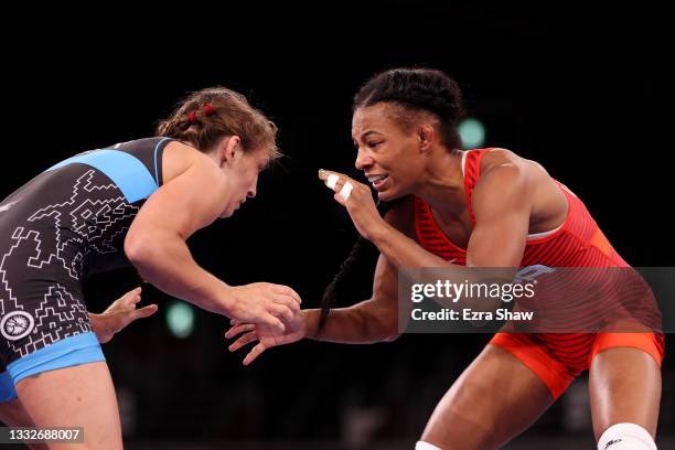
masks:
[(260, 324), (283, 333), (300, 312), (300, 296), (288, 286), (254, 282), (229, 288), (225, 315), (238, 322)]

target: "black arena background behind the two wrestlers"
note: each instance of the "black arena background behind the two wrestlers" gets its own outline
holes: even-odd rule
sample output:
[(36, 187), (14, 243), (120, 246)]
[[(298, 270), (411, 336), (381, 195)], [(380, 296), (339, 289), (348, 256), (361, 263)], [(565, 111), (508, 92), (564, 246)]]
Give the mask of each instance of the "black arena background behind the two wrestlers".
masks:
[[(45, 8), (6, 18), (20, 31), (3, 32), (1, 196), (76, 152), (151, 135), (191, 90), (234, 88), (277, 122), (286, 158), (262, 175), (254, 202), (199, 232), (191, 248), (228, 283), (286, 283), (314, 307), (355, 237), (317, 181), (319, 168), (360, 176), (351, 97), (382, 69), (429, 66), (460, 84), (469, 116), (486, 126), (486, 146), (544, 164), (583, 200), (631, 265), (673, 266), (671, 24), (649, 3), (622, 10), (176, 3), (151, 14)], [(367, 298), (372, 270), (368, 264), (358, 270), (344, 304)], [(89, 309), (103, 310), (137, 282), (131, 270), (92, 279)], [(104, 346), (135, 448), (228, 440), (411, 448), (440, 396), (490, 338), (301, 342), (242, 367), (243, 354), (229, 354), (222, 339), (226, 319), (197, 312), (195, 332), (179, 340), (163, 317), (170, 299), (151, 288), (144, 298), (160, 312)], [(662, 439), (675, 433), (671, 353)], [(550, 436), (575, 442), (561, 448), (592, 447), (583, 377), (511, 448)]]

